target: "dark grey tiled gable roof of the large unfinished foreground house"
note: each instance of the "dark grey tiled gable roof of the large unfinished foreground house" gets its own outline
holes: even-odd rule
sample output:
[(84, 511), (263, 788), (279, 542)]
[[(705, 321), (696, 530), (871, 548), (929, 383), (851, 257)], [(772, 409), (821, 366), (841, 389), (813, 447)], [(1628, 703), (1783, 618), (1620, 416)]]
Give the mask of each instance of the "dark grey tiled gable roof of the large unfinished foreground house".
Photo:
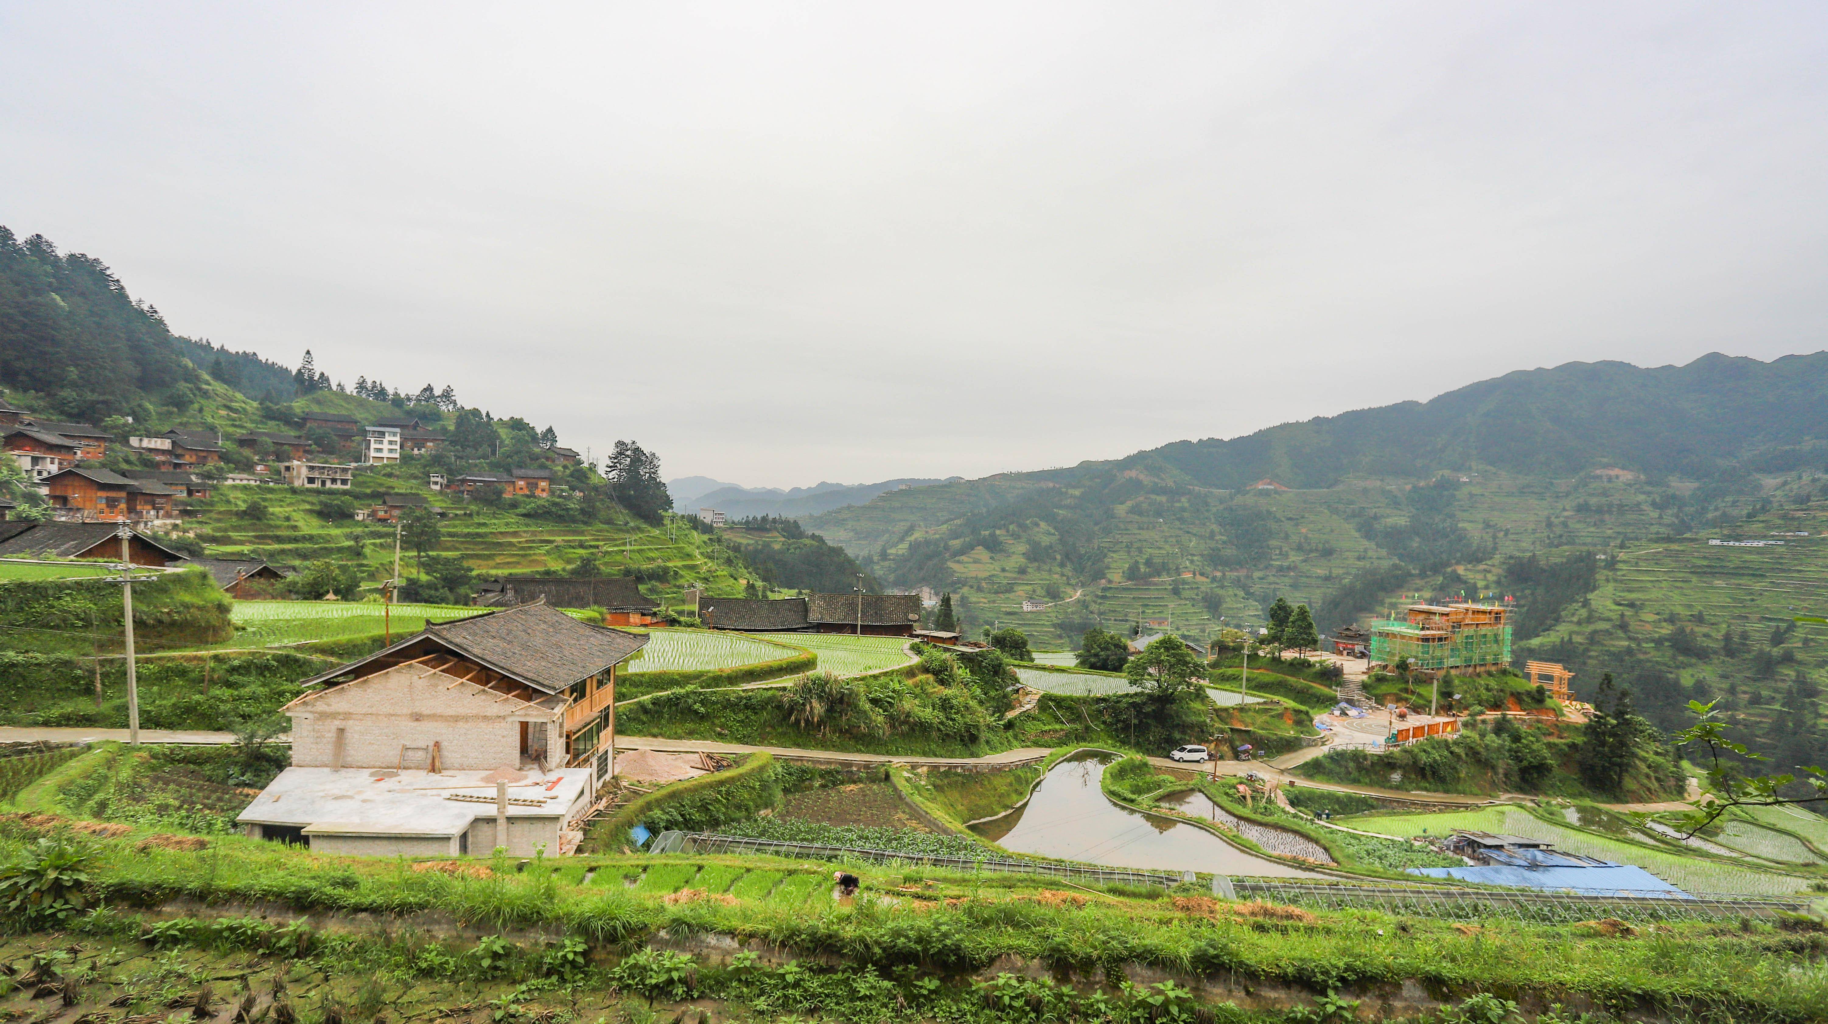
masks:
[(627, 660), (647, 636), (587, 625), (550, 605), (519, 605), (457, 622), (428, 625), (424, 633), (302, 682), (327, 682), (367, 662), (391, 664), (397, 649), (424, 640), (475, 664), (514, 677), (534, 689), (558, 693), (609, 666)]

